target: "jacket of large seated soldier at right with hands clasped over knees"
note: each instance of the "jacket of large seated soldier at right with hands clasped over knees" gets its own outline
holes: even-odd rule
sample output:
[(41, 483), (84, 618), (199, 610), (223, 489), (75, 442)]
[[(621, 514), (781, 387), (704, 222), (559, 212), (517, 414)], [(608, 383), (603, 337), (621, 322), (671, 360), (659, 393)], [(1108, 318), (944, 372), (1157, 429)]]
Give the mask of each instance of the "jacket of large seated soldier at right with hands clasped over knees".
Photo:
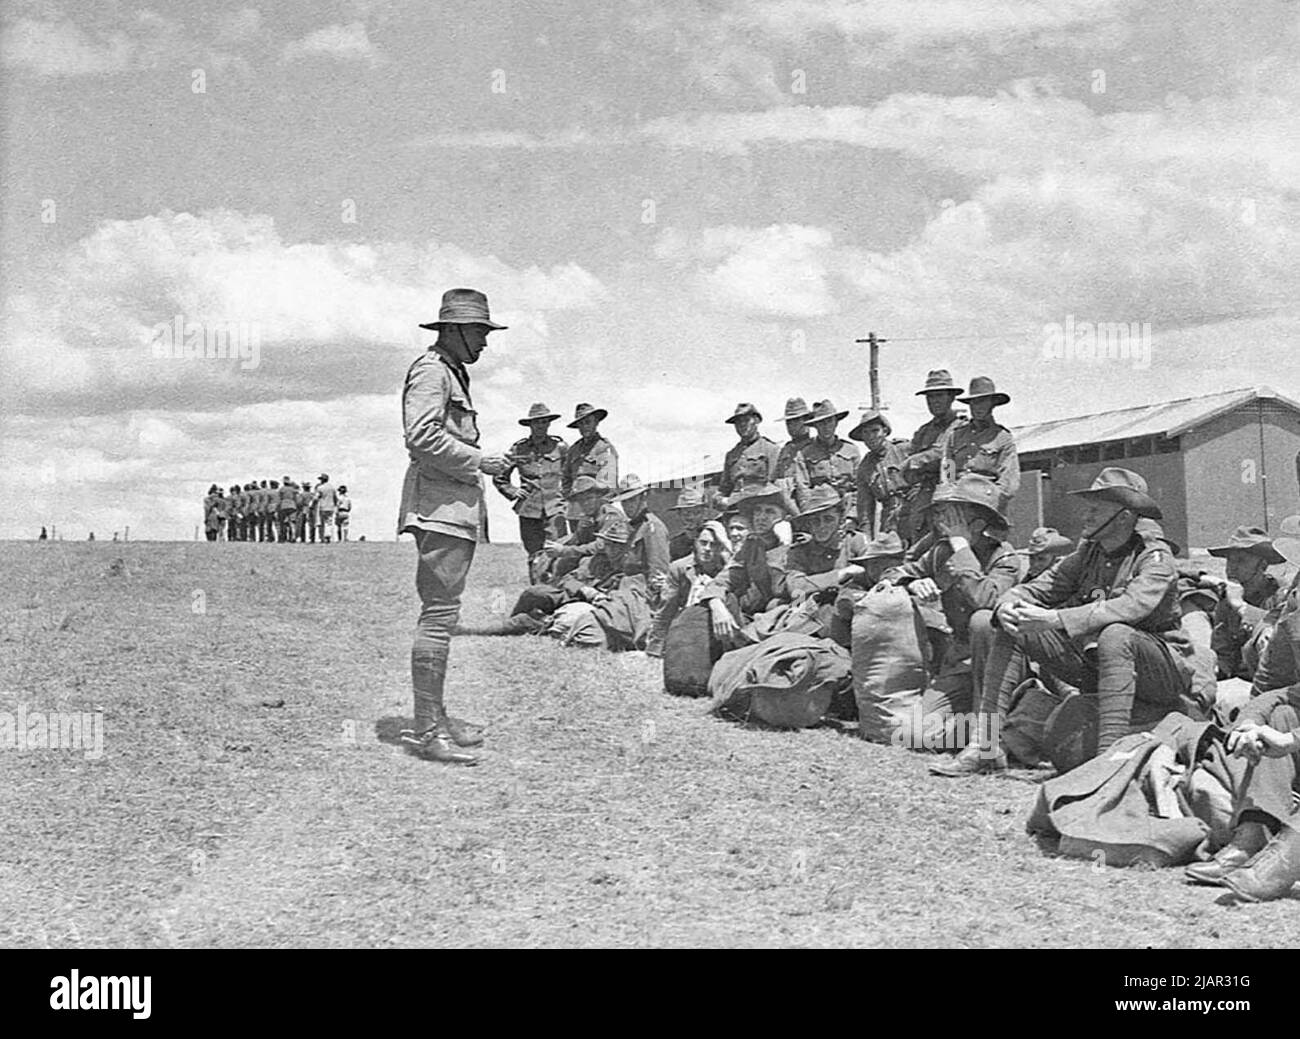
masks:
[(1082, 542), (1000, 602), (1011, 598), (1057, 610), (1065, 633), (1076, 641), (1091, 640), (1108, 624), (1128, 624), (1171, 645), (1188, 642), (1180, 631), (1178, 579), (1169, 549), (1138, 534), (1113, 555), (1095, 541)]

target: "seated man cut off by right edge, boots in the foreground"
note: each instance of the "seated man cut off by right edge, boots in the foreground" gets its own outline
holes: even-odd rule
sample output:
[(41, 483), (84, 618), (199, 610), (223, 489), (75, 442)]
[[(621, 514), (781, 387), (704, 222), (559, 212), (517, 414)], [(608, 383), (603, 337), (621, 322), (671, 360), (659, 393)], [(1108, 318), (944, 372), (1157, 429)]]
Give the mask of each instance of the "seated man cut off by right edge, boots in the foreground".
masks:
[(1300, 610), (1288, 607), (1278, 620), (1254, 692), (1227, 733), (1235, 766), (1232, 839), (1186, 873), (1247, 901), (1269, 901), (1300, 880), (1300, 815), (1294, 810), (1300, 791)]

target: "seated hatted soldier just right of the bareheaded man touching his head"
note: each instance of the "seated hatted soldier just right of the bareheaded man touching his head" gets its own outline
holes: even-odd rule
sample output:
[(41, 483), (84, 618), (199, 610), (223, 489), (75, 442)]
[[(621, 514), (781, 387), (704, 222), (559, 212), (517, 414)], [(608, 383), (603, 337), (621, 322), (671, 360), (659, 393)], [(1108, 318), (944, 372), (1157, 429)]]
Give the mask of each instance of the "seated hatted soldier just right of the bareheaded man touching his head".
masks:
[(785, 493), (775, 484), (753, 484), (731, 499), (749, 533), (699, 596), (708, 605), (714, 635), (723, 641), (734, 640), (740, 624), (754, 614), (790, 601), (785, 586), (788, 550), (776, 532), (785, 519)]

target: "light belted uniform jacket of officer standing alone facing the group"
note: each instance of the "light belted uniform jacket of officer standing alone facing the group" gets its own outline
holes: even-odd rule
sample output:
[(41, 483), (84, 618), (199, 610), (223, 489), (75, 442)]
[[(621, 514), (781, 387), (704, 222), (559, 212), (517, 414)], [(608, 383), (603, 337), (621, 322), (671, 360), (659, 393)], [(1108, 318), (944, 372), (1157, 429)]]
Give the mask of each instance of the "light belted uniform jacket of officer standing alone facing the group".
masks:
[(407, 466), (398, 533), (436, 531), (476, 541), (482, 521), (478, 423), (469, 373), (436, 347), (416, 358), (402, 388)]

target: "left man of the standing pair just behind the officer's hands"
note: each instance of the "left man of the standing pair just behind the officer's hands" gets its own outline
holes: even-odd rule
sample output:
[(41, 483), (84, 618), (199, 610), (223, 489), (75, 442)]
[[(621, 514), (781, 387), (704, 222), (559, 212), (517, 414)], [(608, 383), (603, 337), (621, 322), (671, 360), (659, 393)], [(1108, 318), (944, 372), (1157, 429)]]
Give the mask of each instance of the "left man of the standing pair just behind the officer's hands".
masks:
[[(537, 553), (547, 541), (558, 541), (568, 532), (562, 489), (568, 447), (549, 432), (558, 417), (546, 404), (533, 404), (519, 420), (528, 427), (529, 434), (511, 445), (504, 472), (493, 477), (493, 485), (512, 502), (519, 516), (519, 540), (528, 554), (528, 577), (533, 584), (537, 584), (533, 572)], [(519, 486), (510, 480), (515, 469), (519, 469)]]

